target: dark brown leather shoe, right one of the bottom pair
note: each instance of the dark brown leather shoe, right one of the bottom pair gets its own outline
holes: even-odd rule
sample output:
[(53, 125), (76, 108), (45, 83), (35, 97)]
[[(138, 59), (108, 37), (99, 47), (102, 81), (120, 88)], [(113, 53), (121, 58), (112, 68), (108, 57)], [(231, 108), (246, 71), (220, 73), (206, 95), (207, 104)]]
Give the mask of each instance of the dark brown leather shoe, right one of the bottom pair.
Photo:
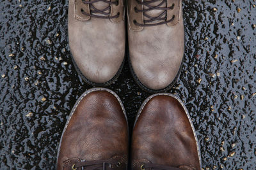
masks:
[(198, 140), (188, 111), (172, 94), (148, 97), (132, 133), (132, 169), (200, 170)]

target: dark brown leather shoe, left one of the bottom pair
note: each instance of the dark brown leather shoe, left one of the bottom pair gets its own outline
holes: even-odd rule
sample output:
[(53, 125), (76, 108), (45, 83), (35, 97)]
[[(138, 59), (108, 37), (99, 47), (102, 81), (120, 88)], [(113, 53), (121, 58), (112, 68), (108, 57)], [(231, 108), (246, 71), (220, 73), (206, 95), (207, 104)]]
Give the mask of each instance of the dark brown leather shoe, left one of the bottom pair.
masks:
[(127, 169), (128, 135), (120, 98), (108, 89), (90, 89), (67, 120), (57, 169)]

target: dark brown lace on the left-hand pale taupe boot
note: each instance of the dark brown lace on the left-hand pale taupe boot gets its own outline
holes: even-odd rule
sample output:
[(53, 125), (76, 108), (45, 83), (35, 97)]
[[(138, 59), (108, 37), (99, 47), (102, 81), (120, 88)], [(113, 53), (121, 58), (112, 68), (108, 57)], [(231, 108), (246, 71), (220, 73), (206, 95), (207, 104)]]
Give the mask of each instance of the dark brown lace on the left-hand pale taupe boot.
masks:
[[(107, 1), (107, 0), (93, 0), (93, 1), (81, 0), (81, 1), (83, 1), (84, 4), (89, 4), (90, 5), (90, 13), (86, 13), (83, 9), (81, 9), (81, 11), (84, 15), (87, 15), (87, 16), (90, 16), (90, 17), (95, 17), (95, 18), (108, 18), (108, 19), (118, 18), (119, 15), (120, 15), (120, 12), (118, 12), (116, 15), (110, 16), (110, 10), (111, 10), (110, 5), (115, 4), (116, 6), (118, 6), (119, 0), (116, 0), (115, 2), (111, 2), (111, 1)], [(100, 1), (109, 4), (109, 6), (102, 9), (102, 10), (99, 10), (95, 6), (93, 6), (93, 3), (97, 3), (97, 2), (100, 2)], [(109, 10), (109, 12), (106, 12), (108, 10)], [(95, 15), (95, 13), (106, 15), (106, 16)]]

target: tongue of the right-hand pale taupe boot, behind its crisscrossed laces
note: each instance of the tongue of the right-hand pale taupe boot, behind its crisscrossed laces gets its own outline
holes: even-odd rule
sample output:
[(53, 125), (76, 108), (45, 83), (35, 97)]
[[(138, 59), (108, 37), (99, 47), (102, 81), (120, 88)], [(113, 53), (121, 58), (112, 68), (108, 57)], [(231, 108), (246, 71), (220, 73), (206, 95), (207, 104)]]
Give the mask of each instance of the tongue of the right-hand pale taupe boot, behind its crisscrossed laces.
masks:
[[(152, 0), (144, 0), (144, 2), (147, 2), (147, 1), (152, 1)], [(163, 4), (161, 4), (161, 3), (163, 3)], [(155, 7), (155, 6), (159, 5), (159, 4), (161, 4), (161, 6), (159, 6), (159, 7), (162, 7), (162, 8), (163, 7), (166, 8), (166, 6), (167, 6), (166, 0), (158, 0), (158, 1), (154, 2), (154, 3), (149, 3), (148, 6)], [(148, 8), (150, 8), (148, 6), (147, 5), (143, 5), (143, 10), (147, 10)], [(155, 9), (155, 10), (150, 10), (150, 11), (145, 12), (145, 14), (149, 15), (150, 17), (154, 17), (155, 18), (155, 17), (158, 17), (161, 13), (163, 13), (163, 11), (164, 10), (157, 10), (157, 9)], [(166, 17), (166, 14), (161, 16), (161, 18), (164, 18), (164, 17)], [(150, 18), (146, 17), (145, 15), (143, 16), (143, 18), (144, 18), (144, 20), (150, 20)], [(148, 22), (148, 23), (145, 23), (145, 24), (156, 24), (156, 23), (163, 22), (163, 21), (164, 20), (155, 20), (153, 22)]]

